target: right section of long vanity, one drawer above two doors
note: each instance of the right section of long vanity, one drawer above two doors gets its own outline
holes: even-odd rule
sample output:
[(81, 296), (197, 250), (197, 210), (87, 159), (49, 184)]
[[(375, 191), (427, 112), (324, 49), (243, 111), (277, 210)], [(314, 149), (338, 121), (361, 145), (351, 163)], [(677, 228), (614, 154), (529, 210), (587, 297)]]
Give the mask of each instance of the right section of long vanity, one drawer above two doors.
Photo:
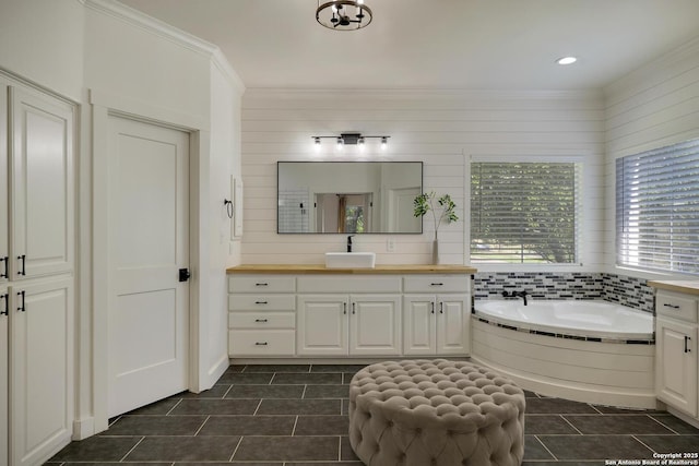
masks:
[[(469, 284), (462, 276), (404, 278), (404, 355), (467, 356), (471, 353)], [(429, 291), (433, 294), (427, 294)]]

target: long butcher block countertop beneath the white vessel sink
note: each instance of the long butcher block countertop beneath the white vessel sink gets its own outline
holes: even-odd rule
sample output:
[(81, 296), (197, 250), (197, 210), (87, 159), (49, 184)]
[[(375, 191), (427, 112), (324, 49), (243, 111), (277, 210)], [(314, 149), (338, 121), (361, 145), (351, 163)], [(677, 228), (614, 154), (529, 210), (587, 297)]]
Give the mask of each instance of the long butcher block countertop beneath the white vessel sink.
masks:
[(327, 275), (396, 275), (396, 274), (466, 274), (476, 273), (466, 265), (377, 265), (375, 268), (328, 268), (323, 264), (242, 264), (226, 270), (227, 274), (327, 274)]

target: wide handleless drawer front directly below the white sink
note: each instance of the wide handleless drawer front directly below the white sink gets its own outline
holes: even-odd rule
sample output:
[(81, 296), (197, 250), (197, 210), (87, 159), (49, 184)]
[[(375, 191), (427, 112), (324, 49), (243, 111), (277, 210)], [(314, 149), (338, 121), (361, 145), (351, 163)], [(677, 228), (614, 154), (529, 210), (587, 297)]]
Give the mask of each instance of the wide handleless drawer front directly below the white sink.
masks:
[(305, 275), (298, 277), (298, 292), (401, 292), (401, 277)]

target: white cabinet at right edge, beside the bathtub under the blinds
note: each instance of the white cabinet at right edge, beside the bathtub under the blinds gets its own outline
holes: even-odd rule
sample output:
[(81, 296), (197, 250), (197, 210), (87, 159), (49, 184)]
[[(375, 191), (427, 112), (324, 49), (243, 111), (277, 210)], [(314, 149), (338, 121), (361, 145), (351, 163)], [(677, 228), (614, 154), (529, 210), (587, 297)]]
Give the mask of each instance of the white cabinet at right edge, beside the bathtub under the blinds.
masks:
[(655, 297), (655, 392), (694, 418), (699, 415), (698, 302), (697, 296), (662, 289)]

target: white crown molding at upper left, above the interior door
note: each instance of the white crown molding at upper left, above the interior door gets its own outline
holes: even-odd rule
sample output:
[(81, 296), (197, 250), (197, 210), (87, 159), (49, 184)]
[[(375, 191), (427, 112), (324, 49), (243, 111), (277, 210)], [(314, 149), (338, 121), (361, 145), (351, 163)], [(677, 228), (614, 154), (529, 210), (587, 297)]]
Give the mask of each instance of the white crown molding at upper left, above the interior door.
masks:
[(100, 14), (111, 16), (130, 26), (138, 27), (149, 34), (168, 40), (179, 47), (206, 57), (211, 62), (221, 70), (235, 88), (242, 93), (245, 84), (240, 75), (230, 65), (230, 62), (223, 55), (218, 46), (203, 40), (192, 34), (171, 26), (161, 20), (149, 16), (135, 9), (119, 3), (116, 0), (78, 0), (85, 8), (88, 8)]

